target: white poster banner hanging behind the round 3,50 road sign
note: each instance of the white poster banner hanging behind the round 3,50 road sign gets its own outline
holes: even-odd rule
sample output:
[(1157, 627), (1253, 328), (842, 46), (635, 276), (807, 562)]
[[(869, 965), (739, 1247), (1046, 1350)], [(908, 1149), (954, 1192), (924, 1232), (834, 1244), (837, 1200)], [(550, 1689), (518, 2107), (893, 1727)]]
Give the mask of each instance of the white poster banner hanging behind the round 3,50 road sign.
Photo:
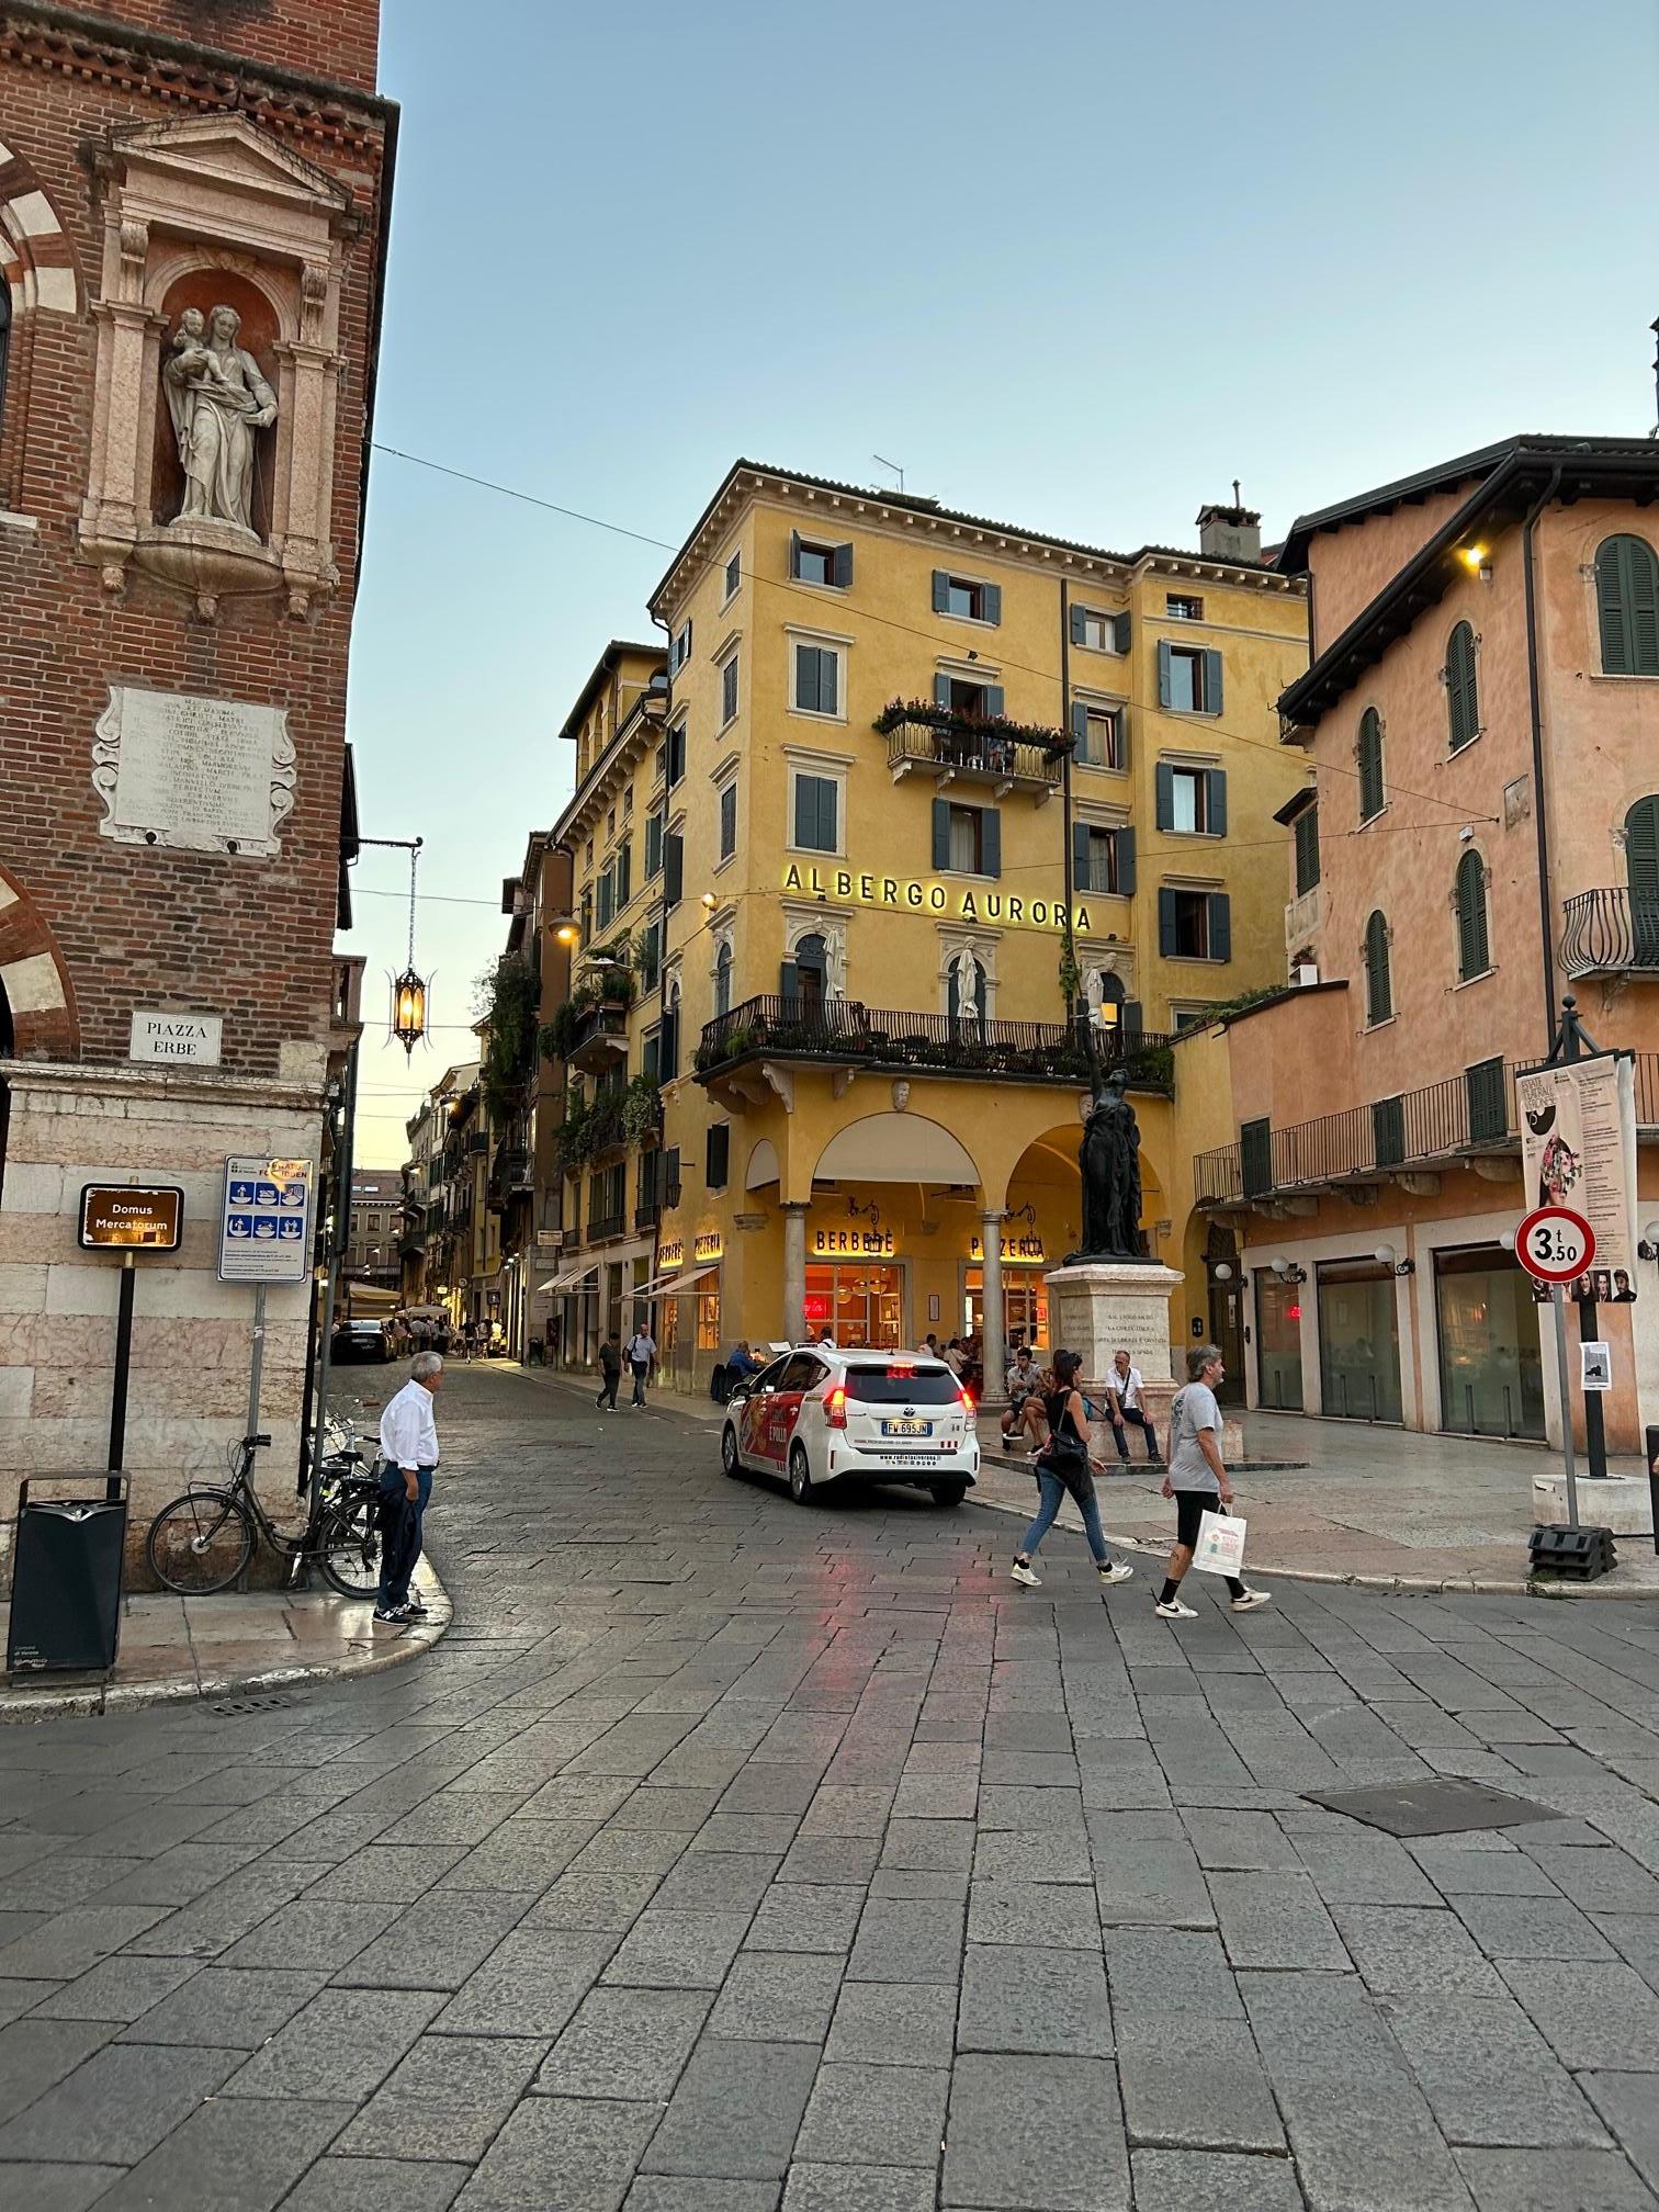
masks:
[[(1568, 1292), (1628, 1305), (1637, 1290), (1637, 1099), (1630, 1053), (1515, 1077), (1528, 1206), (1571, 1206), (1595, 1230), (1595, 1272)], [(1599, 1281), (1606, 1279), (1606, 1281)]]

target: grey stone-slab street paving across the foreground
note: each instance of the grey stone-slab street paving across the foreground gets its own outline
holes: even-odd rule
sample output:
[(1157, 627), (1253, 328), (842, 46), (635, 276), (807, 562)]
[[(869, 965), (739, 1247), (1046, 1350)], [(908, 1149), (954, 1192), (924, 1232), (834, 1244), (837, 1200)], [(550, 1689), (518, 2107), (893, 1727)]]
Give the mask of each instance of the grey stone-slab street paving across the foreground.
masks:
[[(449, 1637), (0, 1730), (0, 2203), (1626, 2212), (1659, 2199), (1659, 1610), (801, 1511), (453, 1376)], [(1553, 1807), (1396, 1843), (1303, 1792)]]

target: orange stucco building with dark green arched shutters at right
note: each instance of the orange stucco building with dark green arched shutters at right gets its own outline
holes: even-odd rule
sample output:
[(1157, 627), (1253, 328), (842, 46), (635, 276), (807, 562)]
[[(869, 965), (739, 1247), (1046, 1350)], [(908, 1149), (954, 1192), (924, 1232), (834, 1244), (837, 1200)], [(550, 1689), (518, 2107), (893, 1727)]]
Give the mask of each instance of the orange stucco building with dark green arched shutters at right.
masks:
[[(1179, 1044), (1194, 1261), (1252, 1405), (1559, 1440), (1513, 1259), (1515, 1073), (1564, 993), (1637, 1055), (1659, 1223), (1659, 449), (1511, 438), (1305, 515), (1292, 989)], [(1613, 1451), (1659, 1422), (1659, 1265), (1601, 1305)], [(1575, 1358), (1577, 1367), (1577, 1358)], [(1575, 1394), (1577, 1396), (1577, 1394)], [(1579, 1416), (1582, 1420), (1582, 1416)]]

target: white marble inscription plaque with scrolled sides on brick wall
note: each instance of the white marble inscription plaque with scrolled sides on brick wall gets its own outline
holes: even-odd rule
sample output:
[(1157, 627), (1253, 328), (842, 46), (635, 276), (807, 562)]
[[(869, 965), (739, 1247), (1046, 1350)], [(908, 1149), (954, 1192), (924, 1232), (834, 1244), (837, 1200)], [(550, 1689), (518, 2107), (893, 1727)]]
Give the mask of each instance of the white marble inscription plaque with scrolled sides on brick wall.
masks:
[(111, 684), (93, 743), (102, 836), (268, 858), (294, 807), (288, 708)]

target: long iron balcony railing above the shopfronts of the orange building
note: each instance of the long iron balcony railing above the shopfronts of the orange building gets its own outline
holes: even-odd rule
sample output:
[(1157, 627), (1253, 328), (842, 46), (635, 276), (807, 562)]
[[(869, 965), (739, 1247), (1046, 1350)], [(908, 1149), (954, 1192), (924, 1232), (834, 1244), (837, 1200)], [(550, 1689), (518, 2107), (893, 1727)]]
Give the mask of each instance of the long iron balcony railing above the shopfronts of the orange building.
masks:
[[(1500, 1075), (1493, 1060), (1371, 1106), (1252, 1130), (1239, 1144), (1194, 1157), (1194, 1197), (1199, 1206), (1237, 1206), (1513, 1150), (1520, 1144), (1515, 1077), (1533, 1066), (1533, 1060), (1504, 1062)], [(1659, 1124), (1659, 1053), (1637, 1053), (1637, 1124)]]

